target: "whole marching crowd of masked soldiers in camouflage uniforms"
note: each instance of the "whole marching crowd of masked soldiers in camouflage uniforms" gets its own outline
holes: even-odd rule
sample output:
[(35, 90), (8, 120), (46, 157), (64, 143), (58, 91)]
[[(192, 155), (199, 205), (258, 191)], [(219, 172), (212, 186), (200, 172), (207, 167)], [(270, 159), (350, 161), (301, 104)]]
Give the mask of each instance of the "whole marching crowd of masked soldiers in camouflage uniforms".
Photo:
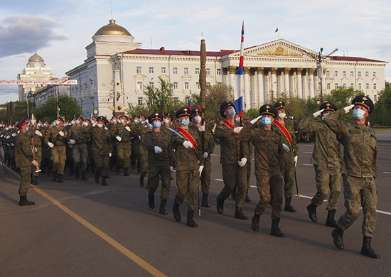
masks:
[[(339, 116), (353, 109), (353, 122), (341, 121)], [(283, 210), (296, 212), (291, 205), (299, 148), (297, 131), (314, 136), (312, 162), (316, 173), (316, 195), (307, 206), (309, 219), (317, 222), (316, 208), (329, 195), (326, 226), (333, 227), (332, 237), (338, 249), (344, 249), (343, 231), (357, 219), (363, 207), (363, 246), (361, 254), (379, 258), (370, 241), (375, 228), (377, 192), (377, 143), (373, 129), (365, 124), (373, 112), (369, 97), (355, 97), (350, 106), (337, 109), (330, 102), (321, 104), (319, 111), (309, 114), (294, 124), (286, 119), (285, 103), (264, 104), (256, 119), (243, 124), (235, 105), (226, 101), (220, 106), (222, 121), (203, 121), (200, 109), (183, 108), (172, 114), (155, 112), (127, 117), (104, 116), (92, 119), (77, 117), (65, 121), (58, 117), (52, 123), (21, 119), (16, 124), (4, 125), (0, 141), (4, 148), (4, 163), (20, 171), (19, 205), (34, 205), (27, 200), (30, 184), (38, 185), (39, 173), (47, 172), (53, 182), (63, 183), (65, 166), (70, 175), (87, 180), (86, 172), (95, 175), (95, 182), (108, 185), (109, 171), (129, 176), (129, 168), (140, 174), (139, 185), (144, 187), (148, 176), (148, 205), (155, 208), (155, 192), (161, 184), (159, 212), (168, 214), (166, 204), (170, 192), (173, 168), (176, 168), (178, 187), (173, 200), (173, 217), (181, 221), (179, 207), (187, 199), (187, 225), (197, 227), (194, 212), (201, 183), (203, 207), (210, 207), (210, 155), (215, 141), (220, 144), (220, 163), (224, 188), (216, 199), (216, 209), (224, 212), (228, 197), (235, 199), (237, 219), (246, 220), (242, 211), (245, 202), (251, 202), (251, 160), (255, 159), (255, 176), (259, 201), (251, 219), (251, 228), (259, 230), (259, 219), (267, 205), (272, 206), (270, 234), (286, 237), (279, 229)], [(322, 119), (318, 120), (321, 115)], [(244, 125), (244, 126), (243, 126)], [(365, 155), (364, 149), (368, 148)], [(365, 158), (363, 158), (365, 156)], [(334, 219), (343, 179), (346, 212)]]

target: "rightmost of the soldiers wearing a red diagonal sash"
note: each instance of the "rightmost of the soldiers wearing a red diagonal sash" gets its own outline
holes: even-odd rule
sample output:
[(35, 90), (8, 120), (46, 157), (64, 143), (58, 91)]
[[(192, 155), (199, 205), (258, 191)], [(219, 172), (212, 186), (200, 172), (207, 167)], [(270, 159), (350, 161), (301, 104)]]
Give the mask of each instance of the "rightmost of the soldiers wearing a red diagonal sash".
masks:
[(294, 135), (294, 126), (291, 121), (285, 119), (285, 103), (279, 101), (274, 104), (277, 109), (277, 119), (273, 121), (272, 128), (277, 131), (282, 137), (282, 143), (286, 151), (285, 158), (285, 174), (284, 174), (284, 196), (286, 212), (296, 212), (296, 209), (291, 206), (292, 195), (294, 192), (294, 174), (296, 170), (297, 154), (299, 147), (296, 146), (296, 139)]

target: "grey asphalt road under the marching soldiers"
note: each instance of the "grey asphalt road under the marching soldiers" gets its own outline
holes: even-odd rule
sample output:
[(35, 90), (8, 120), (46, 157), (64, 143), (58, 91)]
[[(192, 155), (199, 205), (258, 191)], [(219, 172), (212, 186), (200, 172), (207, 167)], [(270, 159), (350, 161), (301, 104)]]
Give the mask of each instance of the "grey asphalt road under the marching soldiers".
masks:
[[(336, 249), (332, 228), (324, 226), (326, 203), (318, 208), (318, 223), (310, 222), (306, 205), (316, 192), (313, 147), (299, 144), (301, 199), (292, 200), (298, 212), (282, 213), (286, 238), (269, 235), (269, 207), (259, 232), (252, 232), (250, 219), (233, 217), (233, 200), (225, 201), (224, 214), (215, 210), (223, 188), (219, 147), (212, 156), (212, 207), (195, 217), (195, 229), (186, 226), (186, 201), (182, 222), (173, 219), (175, 180), (166, 216), (149, 209), (134, 170), (129, 177), (111, 173), (108, 187), (95, 183), (92, 174), (85, 182), (65, 175), (65, 183), (42, 175), (28, 193), (36, 205), (19, 207), (18, 178), (14, 173), (6, 177), (0, 165), (0, 276), (390, 276), (391, 143), (379, 143), (372, 243), (381, 254), (378, 260), (360, 255), (362, 215), (345, 232), (345, 251)], [(249, 217), (259, 199), (254, 175), (251, 185), (252, 202), (243, 208)], [(336, 216), (344, 210), (341, 193)]]

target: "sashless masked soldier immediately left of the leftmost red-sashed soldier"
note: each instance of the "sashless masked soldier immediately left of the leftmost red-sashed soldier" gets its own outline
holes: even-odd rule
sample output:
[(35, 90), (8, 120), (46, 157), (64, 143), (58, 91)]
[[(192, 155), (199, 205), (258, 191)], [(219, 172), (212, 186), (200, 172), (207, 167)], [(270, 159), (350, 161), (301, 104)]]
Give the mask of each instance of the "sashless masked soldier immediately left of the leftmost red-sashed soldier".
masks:
[(171, 132), (161, 128), (163, 115), (151, 114), (148, 121), (153, 129), (143, 136), (144, 147), (148, 151), (148, 205), (155, 208), (155, 192), (161, 180), (161, 195), (159, 212), (168, 214), (166, 203), (170, 194), (171, 170), (175, 166), (171, 146)]

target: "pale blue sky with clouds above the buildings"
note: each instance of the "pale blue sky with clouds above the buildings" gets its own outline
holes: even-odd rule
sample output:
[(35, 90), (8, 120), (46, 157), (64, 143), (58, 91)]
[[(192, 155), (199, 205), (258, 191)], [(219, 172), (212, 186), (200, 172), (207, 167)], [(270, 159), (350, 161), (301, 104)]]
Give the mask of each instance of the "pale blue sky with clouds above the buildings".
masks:
[[(1, 0), (0, 80), (16, 80), (34, 53), (58, 78), (81, 65), (95, 32), (114, 18), (141, 48), (239, 50), (284, 38), (323, 54), (391, 62), (390, 0)], [(275, 30), (278, 28), (278, 32)], [(391, 82), (391, 65), (385, 67)], [(18, 100), (0, 85), (0, 104)]]

